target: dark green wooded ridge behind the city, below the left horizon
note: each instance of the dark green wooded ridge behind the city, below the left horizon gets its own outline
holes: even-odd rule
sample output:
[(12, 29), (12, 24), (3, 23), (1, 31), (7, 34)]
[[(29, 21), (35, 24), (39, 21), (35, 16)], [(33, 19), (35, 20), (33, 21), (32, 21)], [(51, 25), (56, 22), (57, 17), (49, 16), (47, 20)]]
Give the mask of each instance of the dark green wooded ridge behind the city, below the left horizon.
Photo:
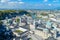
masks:
[(21, 16), (23, 14), (30, 16), (30, 13), (25, 10), (0, 10), (0, 20), (5, 19), (6, 17), (15, 17), (16, 15)]

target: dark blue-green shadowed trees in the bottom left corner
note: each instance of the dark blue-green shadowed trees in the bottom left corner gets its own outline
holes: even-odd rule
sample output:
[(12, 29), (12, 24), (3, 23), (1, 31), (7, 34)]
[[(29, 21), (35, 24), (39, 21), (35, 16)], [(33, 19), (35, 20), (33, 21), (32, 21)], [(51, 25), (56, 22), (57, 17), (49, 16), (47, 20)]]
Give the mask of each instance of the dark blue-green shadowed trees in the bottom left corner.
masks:
[(2, 25), (0, 22), (0, 40), (11, 40), (13, 38), (13, 32), (11, 29), (6, 28), (6, 26)]

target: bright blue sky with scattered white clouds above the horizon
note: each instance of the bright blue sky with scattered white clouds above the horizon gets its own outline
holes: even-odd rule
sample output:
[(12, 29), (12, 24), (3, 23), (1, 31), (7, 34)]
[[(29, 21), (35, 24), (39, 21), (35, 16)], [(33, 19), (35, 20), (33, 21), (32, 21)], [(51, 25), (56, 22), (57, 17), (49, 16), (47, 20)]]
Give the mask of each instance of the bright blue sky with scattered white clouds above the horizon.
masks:
[(0, 0), (0, 9), (60, 9), (60, 0)]

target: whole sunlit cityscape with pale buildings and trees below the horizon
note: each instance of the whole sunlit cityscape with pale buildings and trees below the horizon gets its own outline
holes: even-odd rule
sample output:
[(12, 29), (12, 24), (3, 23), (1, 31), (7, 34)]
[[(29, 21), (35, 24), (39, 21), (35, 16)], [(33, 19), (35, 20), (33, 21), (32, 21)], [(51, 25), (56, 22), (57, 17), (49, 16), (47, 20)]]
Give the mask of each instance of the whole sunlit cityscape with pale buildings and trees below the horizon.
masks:
[(60, 40), (60, 10), (1, 10), (0, 40)]

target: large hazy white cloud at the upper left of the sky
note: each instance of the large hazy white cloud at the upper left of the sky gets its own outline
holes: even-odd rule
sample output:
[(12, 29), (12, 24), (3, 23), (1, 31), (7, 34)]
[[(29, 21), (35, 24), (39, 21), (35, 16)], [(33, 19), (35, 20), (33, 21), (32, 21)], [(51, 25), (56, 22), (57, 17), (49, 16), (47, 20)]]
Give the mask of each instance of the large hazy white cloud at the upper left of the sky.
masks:
[(21, 0), (17, 1), (10, 1), (10, 0), (1, 0), (0, 1), (0, 8), (18, 8), (19, 6), (22, 6), (24, 2)]

